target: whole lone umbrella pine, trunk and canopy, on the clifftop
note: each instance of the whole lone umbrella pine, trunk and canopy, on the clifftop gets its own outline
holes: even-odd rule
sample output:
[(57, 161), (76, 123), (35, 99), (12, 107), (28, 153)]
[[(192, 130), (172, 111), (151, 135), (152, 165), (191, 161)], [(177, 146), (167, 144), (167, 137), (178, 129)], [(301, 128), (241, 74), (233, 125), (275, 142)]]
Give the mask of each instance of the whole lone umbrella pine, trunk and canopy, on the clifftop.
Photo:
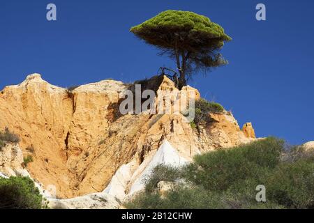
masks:
[(133, 26), (130, 31), (147, 44), (160, 49), (176, 61), (180, 72), (179, 89), (186, 85), (186, 75), (227, 64), (219, 53), (231, 38), (208, 17), (181, 10), (166, 10)]

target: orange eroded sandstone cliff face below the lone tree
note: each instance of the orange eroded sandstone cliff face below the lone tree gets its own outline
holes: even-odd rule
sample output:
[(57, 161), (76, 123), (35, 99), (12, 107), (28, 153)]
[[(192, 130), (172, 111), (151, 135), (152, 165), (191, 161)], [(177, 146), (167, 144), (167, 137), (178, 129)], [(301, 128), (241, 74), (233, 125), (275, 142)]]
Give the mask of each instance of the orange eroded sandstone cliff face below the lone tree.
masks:
[[(128, 85), (106, 80), (73, 91), (29, 75), (17, 86), (0, 92), (0, 128), (21, 137), (20, 147), (33, 156), (27, 165), (31, 176), (47, 187), (57, 187), (57, 197), (70, 198), (101, 192), (121, 165), (133, 170), (156, 152), (163, 141), (191, 160), (195, 154), (237, 146), (255, 138), (250, 123), (239, 128), (232, 114), (211, 114), (214, 123), (197, 132), (181, 114), (119, 114), (119, 101)], [(167, 77), (160, 90), (179, 91)], [(30, 150), (29, 148), (33, 148)]]

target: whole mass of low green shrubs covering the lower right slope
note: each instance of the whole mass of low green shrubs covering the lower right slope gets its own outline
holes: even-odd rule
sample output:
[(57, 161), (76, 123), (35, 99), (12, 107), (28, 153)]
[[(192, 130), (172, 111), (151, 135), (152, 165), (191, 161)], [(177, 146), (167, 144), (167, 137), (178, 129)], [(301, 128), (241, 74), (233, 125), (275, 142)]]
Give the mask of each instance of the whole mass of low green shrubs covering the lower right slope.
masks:
[[(197, 155), (181, 169), (158, 166), (146, 190), (127, 208), (314, 208), (314, 155), (269, 137), (235, 148)], [(285, 157), (285, 159), (283, 159)], [(287, 158), (288, 157), (288, 158)], [(163, 196), (161, 180), (177, 182)], [(181, 183), (180, 183), (181, 182)], [(266, 202), (257, 202), (257, 185)]]

